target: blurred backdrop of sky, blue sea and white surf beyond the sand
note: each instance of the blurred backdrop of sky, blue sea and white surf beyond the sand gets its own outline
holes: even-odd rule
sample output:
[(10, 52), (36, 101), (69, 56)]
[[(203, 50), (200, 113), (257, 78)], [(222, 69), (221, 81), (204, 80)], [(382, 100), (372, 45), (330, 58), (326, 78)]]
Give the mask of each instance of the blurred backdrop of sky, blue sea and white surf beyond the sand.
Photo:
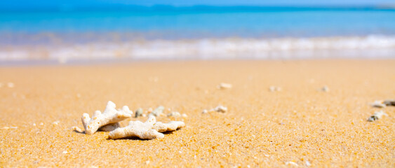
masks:
[(0, 1), (0, 62), (395, 58), (393, 0)]

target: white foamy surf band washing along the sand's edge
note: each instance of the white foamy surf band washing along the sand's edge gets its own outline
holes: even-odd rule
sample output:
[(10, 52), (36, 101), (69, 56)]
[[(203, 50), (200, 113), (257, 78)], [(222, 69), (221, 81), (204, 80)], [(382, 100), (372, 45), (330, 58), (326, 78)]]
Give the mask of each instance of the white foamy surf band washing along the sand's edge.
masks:
[[(37, 49), (39, 48), (39, 49)], [(221, 38), (0, 48), (0, 61), (55, 59), (394, 58), (395, 36)]]

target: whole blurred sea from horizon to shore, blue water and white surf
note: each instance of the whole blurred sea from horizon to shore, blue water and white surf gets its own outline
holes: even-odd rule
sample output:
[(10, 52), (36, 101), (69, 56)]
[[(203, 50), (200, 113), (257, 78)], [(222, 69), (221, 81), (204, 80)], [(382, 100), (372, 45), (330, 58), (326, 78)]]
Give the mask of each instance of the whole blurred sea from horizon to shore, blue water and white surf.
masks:
[(0, 12), (0, 60), (35, 59), (36, 53), (50, 59), (269, 57), (295, 50), (380, 50), (394, 57), (394, 49), (395, 10), (385, 8), (135, 6)]

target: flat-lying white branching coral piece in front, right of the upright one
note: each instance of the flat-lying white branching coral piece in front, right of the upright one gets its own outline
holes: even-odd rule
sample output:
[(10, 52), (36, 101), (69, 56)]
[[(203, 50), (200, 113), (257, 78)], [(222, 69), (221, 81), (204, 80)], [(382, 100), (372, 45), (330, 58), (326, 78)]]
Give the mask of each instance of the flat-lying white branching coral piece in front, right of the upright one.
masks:
[(155, 116), (149, 115), (145, 123), (141, 121), (130, 121), (127, 127), (120, 127), (109, 132), (109, 139), (121, 139), (126, 137), (139, 137), (140, 139), (163, 138), (164, 134), (154, 130)]

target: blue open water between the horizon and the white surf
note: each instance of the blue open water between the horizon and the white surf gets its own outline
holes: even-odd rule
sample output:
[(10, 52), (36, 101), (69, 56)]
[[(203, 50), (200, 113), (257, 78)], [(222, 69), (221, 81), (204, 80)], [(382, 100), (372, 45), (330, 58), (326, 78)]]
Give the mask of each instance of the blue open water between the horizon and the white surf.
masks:
[(166, 39), (395, 34), (395, 10), (206, 8), (0, 13), (0, 34), (116, 32)]

